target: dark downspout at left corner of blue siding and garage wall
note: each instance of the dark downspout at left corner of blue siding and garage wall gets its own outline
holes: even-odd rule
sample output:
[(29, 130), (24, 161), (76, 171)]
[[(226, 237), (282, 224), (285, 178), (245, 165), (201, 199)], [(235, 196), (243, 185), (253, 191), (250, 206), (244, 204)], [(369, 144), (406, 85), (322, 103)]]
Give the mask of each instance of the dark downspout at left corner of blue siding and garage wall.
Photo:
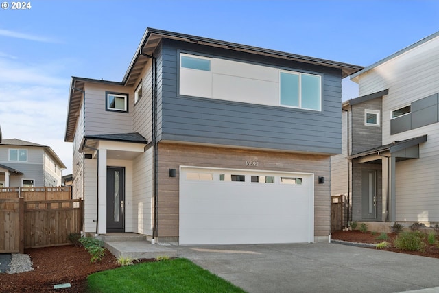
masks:
[(154, 223), (152, 225), (152, 242), (155, 241), (157, 237), (157, 226), (158, 226), (158, 145), (157, 145), (157, 59), (149, 54), (143, 53), (139, 50), (139, 54), (150, 58), (153, 61), (152, 64), (152, 144), (154, 145), (154, 156), (152, 156), (152, 164), (154, 165), (154, 185), (153, 191), (154, 194), (154, 202), (153, 202), (153, 210), (154, 210)]

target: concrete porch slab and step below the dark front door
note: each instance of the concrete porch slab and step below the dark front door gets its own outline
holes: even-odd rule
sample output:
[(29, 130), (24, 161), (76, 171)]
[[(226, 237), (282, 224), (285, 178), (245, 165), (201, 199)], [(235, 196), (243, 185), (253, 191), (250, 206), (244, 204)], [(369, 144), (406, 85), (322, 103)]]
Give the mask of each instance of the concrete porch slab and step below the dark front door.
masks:
[(139, 241), (104, 241), (104, 246), (115, 257), (132, 259), (155, 259), (156, 257), (176, 257), (177, 251), (146, 240)]

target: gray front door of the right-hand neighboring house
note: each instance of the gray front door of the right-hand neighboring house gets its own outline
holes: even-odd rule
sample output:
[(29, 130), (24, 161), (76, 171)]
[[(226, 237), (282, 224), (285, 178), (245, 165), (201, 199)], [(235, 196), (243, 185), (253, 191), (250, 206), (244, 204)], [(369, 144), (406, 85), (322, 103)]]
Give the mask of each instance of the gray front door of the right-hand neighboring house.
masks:
[(361, 172), (361, 207), (363, 219), (377, 218), (377, 171)]

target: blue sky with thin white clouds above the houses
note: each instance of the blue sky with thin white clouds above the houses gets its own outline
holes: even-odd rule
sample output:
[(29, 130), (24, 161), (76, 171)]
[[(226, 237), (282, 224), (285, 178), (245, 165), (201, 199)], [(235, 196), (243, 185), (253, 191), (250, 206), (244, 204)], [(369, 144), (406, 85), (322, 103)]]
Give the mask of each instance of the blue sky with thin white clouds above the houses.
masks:
[[(0, 125), (5, 139), (50, 145), (63, 174), (71, 76), (121, 81), (146, 27), (362, 66), (439, 30), (436, 0), (30, 3), (0, 8)], [(353, 97), (344, 80), (343, 99)]]

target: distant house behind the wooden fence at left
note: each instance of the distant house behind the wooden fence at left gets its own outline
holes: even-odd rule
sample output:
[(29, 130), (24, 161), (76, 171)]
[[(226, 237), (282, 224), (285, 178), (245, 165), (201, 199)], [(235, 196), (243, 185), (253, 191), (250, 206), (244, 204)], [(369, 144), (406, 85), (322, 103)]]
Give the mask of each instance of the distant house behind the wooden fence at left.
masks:
[(47, 145), (3, 139), (0, 143), (0, 187), (61, 186), (66, 166)]

